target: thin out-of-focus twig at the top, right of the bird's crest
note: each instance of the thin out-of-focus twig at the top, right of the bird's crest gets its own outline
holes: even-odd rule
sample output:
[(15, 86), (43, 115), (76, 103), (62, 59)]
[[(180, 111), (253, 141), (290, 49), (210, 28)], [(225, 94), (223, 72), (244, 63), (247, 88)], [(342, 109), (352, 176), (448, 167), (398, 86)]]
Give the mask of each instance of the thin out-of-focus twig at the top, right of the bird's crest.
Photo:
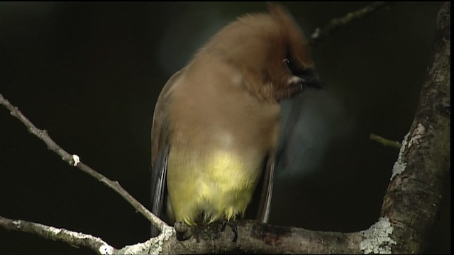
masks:
[(333, 20), (331, 20), (331, 22), (328, 23), (328, 25), (326, 25), (325, 27), (316, 28), (315, 32), (312, 33), (311, 35), (309, 44), (316, 45), (317, 43), (320, 42), (321, 39), (326, 37), (326, 35), (333, 32), (333, 30), (341, 28), (341, 26), (345, 26), (346, 24), (350, 23), (351, 21), (354, 21), (355, 19), (362, 18), (370, 13), (373, 13), (378, 9), (387, 6), (387, 4), (392, 4), (392, 2), (382, 1), (373, 2), (372, 4), (365, 6), (364, 8), (360, 8), (358, 11), (347, 13), (347, 15), (341, 18), (333, 18)]

